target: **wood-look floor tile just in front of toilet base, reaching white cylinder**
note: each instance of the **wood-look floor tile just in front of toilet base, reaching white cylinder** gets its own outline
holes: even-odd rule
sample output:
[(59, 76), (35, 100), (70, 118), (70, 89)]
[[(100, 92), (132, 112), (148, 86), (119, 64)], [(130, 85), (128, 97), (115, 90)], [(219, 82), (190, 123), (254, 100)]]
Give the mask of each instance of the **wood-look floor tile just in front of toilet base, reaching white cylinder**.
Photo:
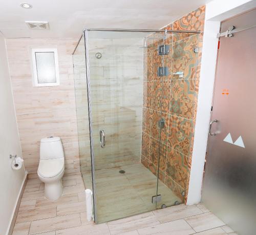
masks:
[(86, 202), (75, 202), (57, 206), (57, 216), (70, 215), (86, 211)]

